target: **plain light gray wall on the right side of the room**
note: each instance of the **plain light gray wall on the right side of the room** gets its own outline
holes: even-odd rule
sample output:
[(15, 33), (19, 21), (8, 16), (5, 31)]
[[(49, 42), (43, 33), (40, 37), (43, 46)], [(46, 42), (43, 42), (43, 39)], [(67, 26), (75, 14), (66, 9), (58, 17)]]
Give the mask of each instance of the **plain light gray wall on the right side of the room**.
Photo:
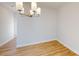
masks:
[(79, 3), (63, 6), (58, 15), (58, 39), (79, 54)]

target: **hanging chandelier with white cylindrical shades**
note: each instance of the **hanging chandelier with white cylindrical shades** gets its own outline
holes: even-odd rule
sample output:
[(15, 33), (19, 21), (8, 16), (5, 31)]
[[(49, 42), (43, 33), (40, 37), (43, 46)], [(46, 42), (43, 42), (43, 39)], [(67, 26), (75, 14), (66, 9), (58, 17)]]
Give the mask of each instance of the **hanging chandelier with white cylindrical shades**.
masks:
[(29, 10), (29, 15), (24, 13), (24, 7), (23, 7), (23, 2), (17, 2), (16, 3), (16, 10), (21, 14), (21, 15), (26, 15), (26, 16), (39, 16), (41, 14), (41, 8), (37, 7), (36, 2), (31, 2), (31, 10)]

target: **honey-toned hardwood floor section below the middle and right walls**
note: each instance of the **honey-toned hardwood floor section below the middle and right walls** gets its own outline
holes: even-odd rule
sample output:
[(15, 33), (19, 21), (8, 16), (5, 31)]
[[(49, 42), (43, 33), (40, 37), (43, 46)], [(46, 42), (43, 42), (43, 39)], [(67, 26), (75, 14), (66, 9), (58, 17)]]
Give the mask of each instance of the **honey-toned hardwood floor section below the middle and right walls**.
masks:
[(76, 53), (64, 47), (58, 41), (50, 41), (36, 45), (18, 48), (18, 56), (77, 56)]

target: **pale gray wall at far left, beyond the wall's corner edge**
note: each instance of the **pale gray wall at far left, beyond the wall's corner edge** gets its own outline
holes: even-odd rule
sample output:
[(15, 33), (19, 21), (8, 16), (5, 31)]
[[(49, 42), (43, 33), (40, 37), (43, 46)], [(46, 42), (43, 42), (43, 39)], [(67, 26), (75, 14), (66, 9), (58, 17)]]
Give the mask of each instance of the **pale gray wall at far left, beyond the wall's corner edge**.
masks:
[(0, 44), (12, 39), (14, 35), (14, 20), (12, 12), (0, 5)]

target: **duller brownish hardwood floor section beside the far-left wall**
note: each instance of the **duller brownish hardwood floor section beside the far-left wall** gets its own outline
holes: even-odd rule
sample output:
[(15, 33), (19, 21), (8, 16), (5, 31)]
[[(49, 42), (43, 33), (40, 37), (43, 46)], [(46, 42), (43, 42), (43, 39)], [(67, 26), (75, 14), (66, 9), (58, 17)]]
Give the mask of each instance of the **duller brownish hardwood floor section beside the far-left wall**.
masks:
[(15, 52), (16, 52), (15, 38), (0, 47), (0, 56), (13, 56), (16, 55)]

